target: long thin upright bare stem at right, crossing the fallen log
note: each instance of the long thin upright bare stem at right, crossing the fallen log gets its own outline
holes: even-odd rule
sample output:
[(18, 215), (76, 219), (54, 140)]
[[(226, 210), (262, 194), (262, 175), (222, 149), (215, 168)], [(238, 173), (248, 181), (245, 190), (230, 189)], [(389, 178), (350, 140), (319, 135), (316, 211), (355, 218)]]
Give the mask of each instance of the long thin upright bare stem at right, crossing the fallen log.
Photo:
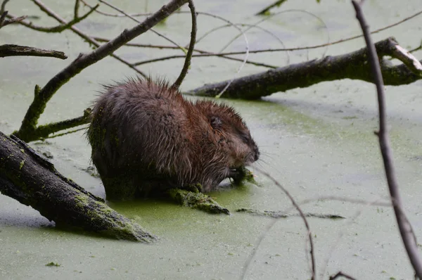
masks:
[(422, 260), (418, 253), (418, 244), (416, 238), (412, 234), (411, 225), (404, 214), (402, 198), (399, 193), (399, 185), (395, 176), (395, 167), (392, 160), (392, 151), (390, 148), (390, 140), (388, 139), (387, 131), (387, 116), (385, 113), (385, 96), (383, 76), (381, 75), (381, 67), (376, 54), (375, 46), (373, 45), (371, 35), (369, 33), (369, 26), (366, 23), (364, 14), (362, 13), (361, 4), (352, 0), (354, 10), (356, 11), (357, 20), (362, 27), (364, 33), (366, 46), (368, 47), (369, 63), (371, 64), (371, 72), (376, 84), (376, 91), (378, 93), (378, 110), (380, 129), (376, 133), (380, 141), (381, 153), (383, 155), (383, 163), (385, 168), (385, 177), (387, 177), (388, 189), (390, 190), (391, 201), (397, 219), (400, 235), (404, 243), (404, 248), (407, 250), (411, 265), (414, 267), (415, 274), (419, 279), (422, 279)]

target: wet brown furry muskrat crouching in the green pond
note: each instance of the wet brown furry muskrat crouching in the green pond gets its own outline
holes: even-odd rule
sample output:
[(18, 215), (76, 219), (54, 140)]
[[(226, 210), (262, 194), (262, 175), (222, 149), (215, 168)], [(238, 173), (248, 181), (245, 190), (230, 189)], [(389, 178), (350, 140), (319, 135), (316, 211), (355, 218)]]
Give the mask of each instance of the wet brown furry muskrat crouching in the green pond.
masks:
[(104, 87), (88, 139), (108, 199), (174, 187), (212, 191), (260, 156), (245, 122), (229, 106), (188, 101), (151, 78)]

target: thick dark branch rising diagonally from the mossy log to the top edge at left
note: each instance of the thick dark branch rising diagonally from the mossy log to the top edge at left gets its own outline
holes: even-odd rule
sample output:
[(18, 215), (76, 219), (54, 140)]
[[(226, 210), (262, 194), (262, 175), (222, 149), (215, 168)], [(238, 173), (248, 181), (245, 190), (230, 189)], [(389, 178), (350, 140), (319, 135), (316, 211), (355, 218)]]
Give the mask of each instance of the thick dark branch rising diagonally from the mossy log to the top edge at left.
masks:
[(30, 108), (28, 108), (20, 129), (18, 132), (14, 132), (14, 134), (25, 141), (34, 140), (32, 132), (34, 132), (37, 128), (39, 116), (44, 112), (46, 103), (50, 100), (53, 94), (55, 94), (56, 91), (65, 84), (65, 82), (68, 82), (68, 80), (72, 77), (75, 77), (75, 75), (84, 70), (84, 68), (87, 68), (89, 65), (109, 56), (115, 50), (119, 49), (120, 46), (123, 46), (130, 40), (149, 30), (164, 18), (167, 18), (167, 16), (185, 4), (186, 1), (187, 0), (170, 1), (169, 4), (162, 6), (162, 8), (160, 8), (160, 10), (154, 13), (154, 15), (150, 18), (144, 20), (143, 23), (136, 25), (130, 30), (124, 30), (122, 34), (117, 36), (115, 39), (107, 44), (101, 45), (98, 49), (95, 49), (91, 53), (79, 55), (79, 57), (70, 63), (68, 67), (50, 79), (50, 81), (41, 90), (35, 91), (34, 101), (31, 103)]

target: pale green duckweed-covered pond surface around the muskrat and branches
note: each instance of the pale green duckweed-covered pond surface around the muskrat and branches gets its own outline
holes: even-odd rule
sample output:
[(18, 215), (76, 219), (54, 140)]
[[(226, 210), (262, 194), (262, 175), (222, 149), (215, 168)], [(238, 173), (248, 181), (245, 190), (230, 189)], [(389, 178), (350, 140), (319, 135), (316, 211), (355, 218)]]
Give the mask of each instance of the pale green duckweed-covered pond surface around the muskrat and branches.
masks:
[[(118, 1), (118, 5), (125, 11), (142, 13), (155, 11), (165, 2), (127, 0)], [(248, 24), (261, 20), (262, 17), (254, 14), (270, 2), (195, 1), (198, 11), (220, 15), (232, 23)], [(366, 1), (364, 12), (371, 29), (395, 23), (420, 8), (419, 1), (406, 3)], [(46, 1), (45, 4), (66, 19), (72, 18), (72, 1)], [(37, 25), (56, 25), (27, 1), (11, 1), (7, 8), (13, 15), (41, 15), (40, 20), (34, 20)], [(103, 6), (101, 9), (113, 12)], [(321, 20), (328, 28), (331, 42), (361, 33), (349, 1), (321, 1), (321, 4), (287, 1), (274, 12), (287, 10), (292, 11), (260, 24), (279, 37), (286, 47), (327, 42), (327, 29)], [(182, 11), (187, 11), (187, 6)], [(188, 42), (190, 24), (188, 14), (172, 15), (155, 30), (183, 45)], [(200, 15), (198, 36), (224, 24)], [(130, 20), (94, 14), (77, 26), (89, 34), (111, 38), (133, 25)], [(420, 44), (420, 26), (421, 16), (374, 34), (373, 39), (395, 36), (403, 47), (412, 49)], [(236, 32), (234, 28), (217, 30), (205, 37), (197, 48), (219, 51)], [(44, 85), (78, 53), (89, 51), (89, 46), (68, 31), (43, 34), (13, 25), (2, 28), (0, 35), (0, 44), (57, 49), (69, 56), (67, 61), (1, 59), (0, 130), (10, 134), (20, 126), (32, 101), (35, 84)], [(262, 30), (252, 29), (247, 35), (250, 49), (282, 47), (277, 39)], [(168, 44), (151, 33), (135, 42)], [(330, 46), (328, 50), (313, 49), (288, 56), (279, 52), (251, 54), (249, 59), (282, 66), (288, 61), (297, 63), (319, 58), (325, 52), (338, 55), (362, 46), (364, 40), (356, 39)], [(226, 50), (244, 49), (245, 43), (240, 37)], [(125, 48), (117, 53), (129, 61), (142, 61), (181, 51)], [(422, 57), (421, 52), (414, 54)], [(174, 59), (146, 64), (141, 70), (173, 81), (182, 64), (183, 60)], [(239, 62), (221, 58), (194, 58), (182, 89), (234, 77), (239, 65)], [(239, 75), (263, 70), (265, 68), (245, 65)], [(82, 115), (94, 100), (96, 91), (101, 89), (99, 84), (133, 75), (134, 72), (113, 58), (92, 65), (58, 91), (39, 123)], [(397, 177), (418, 240), (422, 239), (421, 85), (415, 82), (386, 87)], [(345, 217), (308, 218), (319, 279), (328, 279), (338, 271), (356, 279), (413, 278), (392, 210), (376, 203), (371, 205), (388, 201), (378, 139), (373, 135), (378, 127), (373, 84), (346, 79), (272, 94), (261, 101), (223, 101), (241, 113), (260, 146), (262, 158), (256, 167), (271, 174), (297, 201), (312, 200), (302, 205), (304, 212)], [(86, 171), (91, 165), (91, 148), (84, 132), (34, 142), (31, 146), (42, 153), (51, 153), (51, 161), (66, 177), (98, 196), (105, 196), (101, 181)], [(0, 195), (0, 279), (238, 279), (243, 273), (245, 279), (309, 279), (307, 231), (300, 217), (279, 219), (269, 228), (273, 219), (236, 212), (238, 208), (292, 209), (288, 198), (270, 179), (257, 170), (255, 174), (259, 186), (248, 184), (211, 194), (231, 210), (231, 216), (207, 215), (165, 201), (110, 204), (160, 236), (160, 241), (153, 245), (60, 231), (39, 212)], [(323, 196), (340, 197), (343, 201), (320, 200)], [(366, 201), (366, 205), (347, 202), (350, 199)], [(252, 254), (255, 255), (250, 265), (244, 269)], [(47, 267), (49, 262), (60, 267)]]

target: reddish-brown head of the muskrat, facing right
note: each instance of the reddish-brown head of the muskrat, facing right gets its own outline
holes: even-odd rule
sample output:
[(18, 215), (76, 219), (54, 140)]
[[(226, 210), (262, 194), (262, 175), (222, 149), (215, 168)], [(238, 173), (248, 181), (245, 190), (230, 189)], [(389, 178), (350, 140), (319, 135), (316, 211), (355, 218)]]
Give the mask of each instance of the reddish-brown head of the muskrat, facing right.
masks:
[(227, 167), (237, 169), (260, 158), (260, 151), (248, 127), (233, 108), (211, 101), (198, 101), (196, 106), (210, 122), (217, 146), (227, 156)]

